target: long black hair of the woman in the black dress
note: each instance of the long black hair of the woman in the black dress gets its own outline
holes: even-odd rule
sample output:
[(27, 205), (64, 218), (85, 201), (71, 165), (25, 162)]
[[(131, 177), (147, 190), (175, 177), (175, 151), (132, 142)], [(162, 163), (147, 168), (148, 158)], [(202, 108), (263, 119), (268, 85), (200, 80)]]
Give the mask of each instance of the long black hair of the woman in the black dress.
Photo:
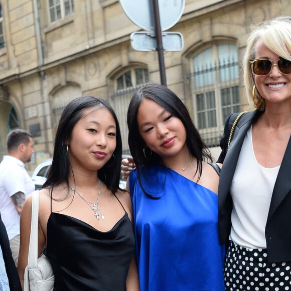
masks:
[(67, 152), (67, 141), (70, 140), (76, 123), (84, 116), (84, 110), (92, 107), (105, 107), (113, 116), (116, 123), (116, 148), (109, 161), (98, 170), (98, 178), (115, 193), (118, 189), (120, 178), (120, 164), (122, 156), (122, 142), (119, 123), (112, 107), (103, 99), (92, 96), (81, 96), (72, 100), (65, 107), (57, 128), (52, 166), (48, 179), (43, 187), (54, 187), (66, 182), (71, 169)]

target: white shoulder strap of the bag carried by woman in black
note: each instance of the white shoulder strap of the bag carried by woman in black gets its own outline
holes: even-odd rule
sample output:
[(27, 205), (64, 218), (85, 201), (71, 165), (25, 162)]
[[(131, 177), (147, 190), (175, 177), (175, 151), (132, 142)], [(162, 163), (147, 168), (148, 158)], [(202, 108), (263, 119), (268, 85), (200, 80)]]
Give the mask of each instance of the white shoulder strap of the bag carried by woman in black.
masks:
[(39, 191), (32, 193), (31, 229), (28, 249), (28, 267), (36, 268), (38, 261)]

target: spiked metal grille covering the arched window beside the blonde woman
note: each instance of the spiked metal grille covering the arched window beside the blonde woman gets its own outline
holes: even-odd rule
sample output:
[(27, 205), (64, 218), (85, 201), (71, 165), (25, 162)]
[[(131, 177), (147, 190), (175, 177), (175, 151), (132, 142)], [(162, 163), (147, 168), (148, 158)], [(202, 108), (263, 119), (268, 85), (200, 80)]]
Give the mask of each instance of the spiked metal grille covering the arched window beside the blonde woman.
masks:
[(238, 62), (225, 60), (188, 75), (194, 122), (208, 147), (219, 145), (225, 119), (240, 111)]

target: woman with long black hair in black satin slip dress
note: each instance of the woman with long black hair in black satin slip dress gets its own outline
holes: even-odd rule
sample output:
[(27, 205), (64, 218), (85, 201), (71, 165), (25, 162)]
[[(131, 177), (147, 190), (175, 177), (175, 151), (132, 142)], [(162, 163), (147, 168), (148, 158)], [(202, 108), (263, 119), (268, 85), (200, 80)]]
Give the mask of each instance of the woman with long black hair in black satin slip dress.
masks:
[[(38, 254), (46, 245), (54, 290), (138, 290), (131, 202), (118, 189), (122, 144), (100, 98), (71, 101), (60, 118), (52, 166), (40, 190)], [(18, 269), (28, 261), (32, 199), (21, 215)]]

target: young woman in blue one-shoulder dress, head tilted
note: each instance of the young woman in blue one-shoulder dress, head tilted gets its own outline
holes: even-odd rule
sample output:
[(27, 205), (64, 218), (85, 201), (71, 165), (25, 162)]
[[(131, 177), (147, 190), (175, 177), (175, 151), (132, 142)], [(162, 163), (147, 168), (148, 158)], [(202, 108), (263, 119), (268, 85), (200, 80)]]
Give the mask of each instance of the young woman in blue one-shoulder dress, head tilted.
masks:
[(140, 289), (224, 290), (219, 175), (181, 99), (159, 84), (131, 98), (128, 143)]

